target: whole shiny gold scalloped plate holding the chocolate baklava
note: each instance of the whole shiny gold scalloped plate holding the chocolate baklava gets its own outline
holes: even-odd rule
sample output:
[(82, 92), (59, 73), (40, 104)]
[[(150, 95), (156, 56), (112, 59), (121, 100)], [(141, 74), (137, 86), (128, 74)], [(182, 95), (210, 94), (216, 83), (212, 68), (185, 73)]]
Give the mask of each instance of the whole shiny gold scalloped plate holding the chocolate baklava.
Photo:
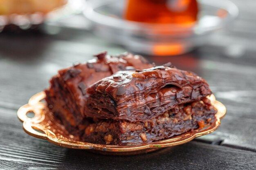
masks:
[[(69, 135), (64, 126), (55, 119), (51, 112), (49, 112), (46, 107), (46, 103), (42, 102), (44, 98), (45, 93), (40, 92), (31, 97), (31, 99), (29, 99), (29, 103), (20, 107), (18, 110), (18, 118), (23, 122), (23, 128), (25, 132), (31, 136), (40, 139), (46, 139), (58, 146), (74, 149), (87, 149), (94, 152), (100, 152), (101, 154), (112, 155), (133, 155), (150, 152), (164, 147), (185, 144), (186, 142), (193, 140), (195, 137), (207, 135), (208, 133), (215, 131), (220, 126), (220, 119), (222, 119), (222, 117), (224, 117), (226, 114), (225, 106), (222, 103), (216, 101), (214, 95), (211, 95), (208, 98), (211, 100), (213, 106), (218, 110), (218, 113), (216, 114), (217, 119), (216, 122), (204, 129), (196, 129), (186, 132), (182, 135), (151, 142), (148, 144), (133, 146), (103, 145), (78, 141), (76, 140), (76, 137)], [(29, 112), (34, 113), (34, 117), (27, 117), (27, 113)]]

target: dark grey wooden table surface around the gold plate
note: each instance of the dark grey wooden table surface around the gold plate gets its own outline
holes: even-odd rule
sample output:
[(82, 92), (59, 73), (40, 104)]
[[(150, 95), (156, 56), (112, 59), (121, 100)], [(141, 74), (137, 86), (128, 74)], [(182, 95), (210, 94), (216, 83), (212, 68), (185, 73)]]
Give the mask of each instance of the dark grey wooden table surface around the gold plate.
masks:
[(256, 169), (256, 2), (235, 2), (238, 20), (209, 43), (185, 55), (147, 56), (207, 79), (227, 107), (221, 127), (187, 144), (143, 155), (104, 156), (61, 148), (27, 135), (16, 116), (58, 69), (99, 51), (116, 54), (125, 49), (79, 29), (58, 27), (56, 35), (0, 33), (0, 169)]

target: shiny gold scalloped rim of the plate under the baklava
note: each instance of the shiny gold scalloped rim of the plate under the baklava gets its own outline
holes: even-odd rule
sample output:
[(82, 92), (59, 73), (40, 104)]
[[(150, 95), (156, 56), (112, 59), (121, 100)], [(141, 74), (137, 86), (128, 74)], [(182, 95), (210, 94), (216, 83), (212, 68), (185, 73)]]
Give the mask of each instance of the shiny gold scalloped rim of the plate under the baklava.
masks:
[[(162, 139), (160, 141), (151, 142), (148, 144), (140, 144), (140, 145), (129, 145), (129, 146), (116, 146), (116, 145), (105, 145), (105, 144), (92, 144), (83, 141), (74, 141), (72, 139), (59, 139), (56, 137), (54, 132), (51, 130), (40, 126), (40, 122), (45, 119), (45, 114), (42, 114), (41, 111), (46, 107), (45, 102), (40, 102), (40, 100), (44, 99), (45, 93), (40, 92), (36, 95), (32, 96), (29, 99), (28, 104), (21, 106), (17, 112), (18, 118), (23, 122), (23, 129), (27, 134), (37, 137), (40, 139), (46, 139), (49, 142), (56, 144), (58, 146), (66, 147), (66, 148), (75, 148), (75, 149), (89, 149), (89, 150), (98, 150), (98, 151), (107, 151), (107, 152), (133, 152), (139, 150), (146, 150), (151, 148), (164, 148), (170, 146), (176, 146), (180, 144), (185, 144), (196, 137), (200, 137), (202, 135), (207, 135), (213, 131), (215, 131), (220, 126), (220, 119), (222, 119), (226, 114), (225, 106), (218, 102), (215, 99), (214, 95), (209, 96), (208, 98), (211, 100), (212, 104), (217, 108), (218, 113), (216, 114), (216, 122), (214, 126), (209, 126), (202, 131), (195, 130), (194, 132), (186, 132), (181, 135), (177, 135), (171, 138)], [(33, 118), (28, 118), (26, 116), (27, 112), (33, 111), (35, 116)], [(39, 113), (40, 112), (40, 113)], [(43, 131), (44, 133), (37, 132), (35, 129)], [(70, 141), (69, 141), (70, 140)]]

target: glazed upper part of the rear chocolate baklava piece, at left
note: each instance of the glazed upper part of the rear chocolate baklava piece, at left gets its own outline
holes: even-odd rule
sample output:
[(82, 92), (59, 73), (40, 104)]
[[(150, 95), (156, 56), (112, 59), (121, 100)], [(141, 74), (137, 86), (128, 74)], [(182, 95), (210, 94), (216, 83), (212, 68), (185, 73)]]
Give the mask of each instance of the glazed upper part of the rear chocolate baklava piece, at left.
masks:
[(107, 55), (106, 52), (95, 55), (95, 59), (86, 63), (58, 71), (58, 75), (50, 80), (50, 87), (45, 90), (46, 102), (55, 115), (65, 115), (70, 126), (77, 126), (85, 118), (85, 89), (93, 83), (113, 73), (130, 69), (152, 67), (146, 59), (139, 55), (125, 53), (118, 56)]

